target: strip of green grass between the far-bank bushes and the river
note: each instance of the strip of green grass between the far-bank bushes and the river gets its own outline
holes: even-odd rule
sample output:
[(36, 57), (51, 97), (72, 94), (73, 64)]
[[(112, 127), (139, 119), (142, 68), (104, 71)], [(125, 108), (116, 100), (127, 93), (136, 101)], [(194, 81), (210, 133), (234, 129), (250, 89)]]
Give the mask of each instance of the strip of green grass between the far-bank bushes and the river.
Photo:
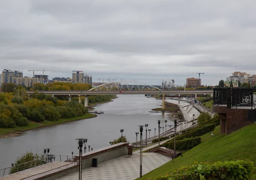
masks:
[(6, 133), (10, 133), (13, 131), (27, 131), (27, 130), (31, 130), (31, 129), (37, 129), (37, 128), (42, 128), (45, 126), (53, 126), (53, 125), (57, 125), (57, 124), (62, 124), (62, 123), (68, 123), (68, 122), (72, 122), (75, 120), (82, 120), (82, 119), (88, 119), (88, 118), (93, 118), (96, 117), (95, 114), (90, 114), (87, 113), (83, 116), (79, 116), (79, 117), (72, 117), (72, 118), (68, 118), (68, 119), (59, 119), (57, 121), (44, 121), (43, 123), (36, 123), (35, 121), (29, 121), (29, 126), (25, 126), (25, 127), (20, 127), (20, 126), (16, 126), (15, 128), (0, 128), (0, 134), (6, 134)]

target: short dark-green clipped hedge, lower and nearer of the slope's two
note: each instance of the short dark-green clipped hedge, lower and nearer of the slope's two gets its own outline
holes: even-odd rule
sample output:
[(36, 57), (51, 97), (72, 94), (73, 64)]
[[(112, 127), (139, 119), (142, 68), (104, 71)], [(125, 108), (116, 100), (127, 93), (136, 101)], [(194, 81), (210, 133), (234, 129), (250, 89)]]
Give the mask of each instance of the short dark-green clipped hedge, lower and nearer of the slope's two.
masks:
[[(177, 140), (176, 149), (179, 149), (179, 150), (192, 149), (193, 147), (197, 146), (200, 143), (201, 143), (201, 137), (192, 137), (189, 139)], [(169, 149), (174, 149), (174, 141), (163, 143), (161, 146)]]

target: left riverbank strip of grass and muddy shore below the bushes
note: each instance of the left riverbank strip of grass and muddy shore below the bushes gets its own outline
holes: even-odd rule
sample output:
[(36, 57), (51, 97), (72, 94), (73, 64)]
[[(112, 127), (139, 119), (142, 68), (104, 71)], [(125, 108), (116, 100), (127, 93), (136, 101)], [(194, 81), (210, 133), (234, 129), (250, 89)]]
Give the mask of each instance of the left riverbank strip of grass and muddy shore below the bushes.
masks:
[(15, 128), (0, 128), (0, 138), (21, 136), (22, 132), (24, 132), (24, 131), (44, 128), (47, 126), (55, 126), (55, 125), (69, 123), (69, 122), (73, 122), (73, 121), (77, 121), (77, 120), (90, 119), (93, 117), (97, 117), (97, 115), (87, 113), (87, 114), (84, 114), (83, 116), (72, 117), (72, 118), (68, 118), (68, 119), (59, 119), (57, 121), (44, 121), (43, 123), (29, 121), (29, 125), (24, 126), (24, 127), (16, 126)]

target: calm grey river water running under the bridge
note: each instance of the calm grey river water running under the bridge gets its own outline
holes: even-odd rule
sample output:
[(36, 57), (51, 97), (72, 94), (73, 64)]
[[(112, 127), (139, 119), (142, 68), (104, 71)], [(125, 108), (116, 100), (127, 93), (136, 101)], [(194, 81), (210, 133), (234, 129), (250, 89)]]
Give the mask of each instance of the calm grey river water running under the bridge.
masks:
[[(151, 129), (152, 137), (154, 128), (158, 126), (157, 120), (161, 120), (161, 126), (164, 120), (173, 125), (168, 115), (149, 112), (160, 107), (161, 103), (161, 100), (144, 95), (120, 94), (112, 102), (95, 106), (95, 110), (104, 111), (104, 114), (99, 114), (98, 117), (26, 131), (20, 137), (0, 139), (0, 169), (10, 166), (26, 151), (42, 153), (43, 149), (50, 148), (50, 154), (71, 154), (72, 151), (79, 154), (76, 138), (87, 138), (86, 145), (95, 150), (110, 146), (109, 141), (121, 136), (119, 129), (124, 129), (123, 136), (126, 136), (129, 142), (135, 141), (135, 132), (139, 131), (137, 126), (145, 124)], [(144, 137), (145, 131), (143, 139)]]

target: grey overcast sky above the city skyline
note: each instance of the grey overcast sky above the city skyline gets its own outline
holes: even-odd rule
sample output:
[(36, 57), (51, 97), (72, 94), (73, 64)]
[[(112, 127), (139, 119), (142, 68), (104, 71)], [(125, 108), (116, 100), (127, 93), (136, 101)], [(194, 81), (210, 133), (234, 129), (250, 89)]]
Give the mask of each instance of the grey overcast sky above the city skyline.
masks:
[[(0, 68), (160, 85), (256, 74), (255, 0), (0, 0)], [(35, 74), (41, 74), (36, 72)]]

